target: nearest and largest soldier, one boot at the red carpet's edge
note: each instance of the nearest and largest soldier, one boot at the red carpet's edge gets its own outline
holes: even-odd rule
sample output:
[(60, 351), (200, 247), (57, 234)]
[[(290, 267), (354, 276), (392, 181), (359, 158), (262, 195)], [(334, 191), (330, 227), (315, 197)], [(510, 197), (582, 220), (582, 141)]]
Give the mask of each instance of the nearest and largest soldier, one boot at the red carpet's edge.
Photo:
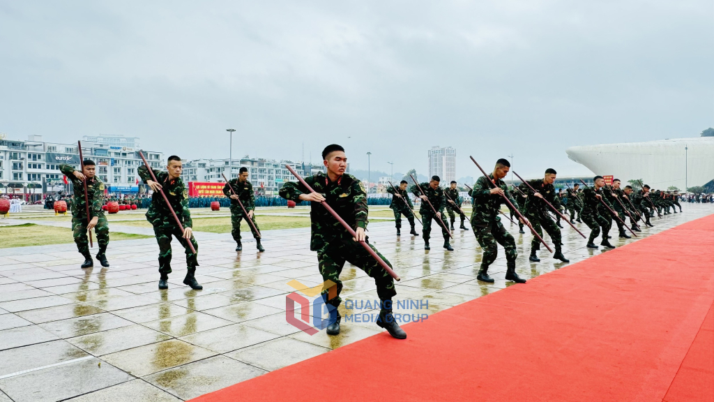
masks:
[[(342, 301), (340, 273), (345, 263), (349, 262), (364, 270), (377, 285), (377, 295), (381, 300), (377, 325), (386, 328), (394, 338), (404, 339), (406, 333), (399, 328), (392, 315), (392, 298), (396, 295), (394, 280), (359, 244), (359, 241), (368, 242), (365, 235), (368, 207), (364, 185), (356, 177), (345, 173), (347, 157), (343, 147), (337, 144), (328, 145), (323, 150), (322, 157), (327, 174), (320, 172), (305, 178), (305, 182), (315, 192), (309, 192), (301, 183), (287, 182), (281, 187), (280, 196), (295, 202), (311, 202), (310, 250), (317, 252), (320, 273), (325, 281), (322, 297), (330, 310), (327, 333), (340, 333), (341, 315), (337, 310)], [(322, 201), (326, 201), (347, 225), (355, 230), (356, 239), (321, 205)], [(369, 247), (391, 267), (388, 260), (379, 254), (373, 245)], [(333, 286), (334, 289), (331, 290)], [(334, 296), (332, 298), (331, 293)]]

